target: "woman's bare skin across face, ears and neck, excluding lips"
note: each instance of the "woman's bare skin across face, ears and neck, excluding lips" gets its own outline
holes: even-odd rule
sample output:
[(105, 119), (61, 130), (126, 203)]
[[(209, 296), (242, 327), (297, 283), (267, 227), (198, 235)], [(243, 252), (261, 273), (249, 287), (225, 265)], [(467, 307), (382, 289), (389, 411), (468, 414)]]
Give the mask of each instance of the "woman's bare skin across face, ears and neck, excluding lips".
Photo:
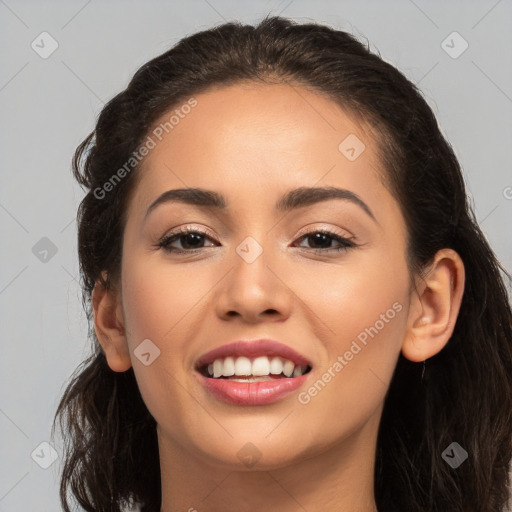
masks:
[[(444, 249), (424, 279), (409, 274), (404, 218), (382, 184), (371, 129), (331, 100), (288, 84), (237, 84), (196, 99), (138, 176), (121, 282), (110, 290), (98, 282), (93, 293), (108, 364), (118, 372), (133, 365), (158, 423), (162, 510), (212, 512), (229, 503), (238, 511), (376, 511), (376, 439), (393, 370), (400, 352), (421, 362), (449, 340), (463, 263)], [(338, 150), (349, 134), (366, 146), (355, 161)], [(277, 215), (277, 199), (301, 186), (351, 190), (377, 222), (336, 199)], [(161, 193), (183, 187), (217, 191), (228, 208), (165, 204), (144, 219)], [(157, 247), (189, 225), (213, 235), (198, 254)], [(301, 238), (319, 228), (358, 245), (315, 254), (315, 247), (338, 245)], [(263, 248), (250, 264), (236, 252), (247, 236)], [(173, 246), (183, 248), (179, 240)], [(300, 403), (299, 392), (394, 303), (401, 311), (309, 403)], [(307, 383), (266, 406), (210, 395), (194, 372), (196, 360), (227, 342), (260, 337), (309, 358)], [(144, 339), (161, 351), (149, 366), (134, 355)], [(247, 443), (260, 457), (250, 468), (237, 456)]]

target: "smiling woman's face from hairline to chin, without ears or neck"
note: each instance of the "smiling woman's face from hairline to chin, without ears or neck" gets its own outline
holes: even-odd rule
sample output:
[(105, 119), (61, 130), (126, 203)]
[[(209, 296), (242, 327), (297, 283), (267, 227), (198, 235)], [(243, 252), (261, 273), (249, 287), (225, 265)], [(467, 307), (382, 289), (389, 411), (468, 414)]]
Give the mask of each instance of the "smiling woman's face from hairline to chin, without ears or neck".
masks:
[[(150, 133), (155, 147), (123, 242), (126, 339), (160, 443), (228, 468), (285, 466), (340, 443), (374, 452), (410, 276), (404, 219), (381, 183), (368, 128), (288, 85), (238, 84), (195, 99)], [(348, 192), (309, 192), (295, 204), (304, 196), (294, 195), (282, 208), (292, 190), (310, 187)], [(214, 192), (225, 206), (162, 196), (187, 188)], [(169, 239), (184, 228), (200, 233)], [(311, 371), (252, 383), (203, 375), (210, 351), (258, 339), (293, 349)], [(229, 354), (239, 373), (247, 364), (240, 354), (254, 356), (254, 373), (269, 371), (279, 354), (295, 357), (269, 345), (219, 353), (217, 372), (232, 371)]]

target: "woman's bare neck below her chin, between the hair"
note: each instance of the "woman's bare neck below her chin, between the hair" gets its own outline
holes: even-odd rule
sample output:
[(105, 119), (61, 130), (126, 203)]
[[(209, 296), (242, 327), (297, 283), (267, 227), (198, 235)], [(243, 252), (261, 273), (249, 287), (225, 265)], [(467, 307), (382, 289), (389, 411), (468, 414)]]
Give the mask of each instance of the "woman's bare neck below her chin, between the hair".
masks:
[(244, 471), (239, 465), (212, 464), (158, 427), (162, 512), (377, 512), (373, 473), (378, 419), (323, 453)]

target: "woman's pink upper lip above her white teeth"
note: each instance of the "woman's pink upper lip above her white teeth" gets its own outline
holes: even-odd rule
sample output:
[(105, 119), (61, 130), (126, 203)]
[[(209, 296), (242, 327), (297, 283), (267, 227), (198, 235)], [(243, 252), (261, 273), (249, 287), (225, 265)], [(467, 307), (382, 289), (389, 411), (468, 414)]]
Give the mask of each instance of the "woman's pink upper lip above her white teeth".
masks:
[(226, 357), (241, 357), (245, 356), (248, 358), (259, 357), (259, 356), (273, 356), (282, 357), (295, 363), (295, 365), (306, 365), (312, 366), (311, 362), (299, 354), (293, 348), (284, 345), (278, 341), (270, 339), (258, 339), (258, 340), (238, 340), (232, 343), (227, 343), (220, 347), (210, 350), (206, 354), (203, 354), (197, 361), (196, 368), (200, 369), (210, 363), (213, 363), (216, 359), (224, 359)]

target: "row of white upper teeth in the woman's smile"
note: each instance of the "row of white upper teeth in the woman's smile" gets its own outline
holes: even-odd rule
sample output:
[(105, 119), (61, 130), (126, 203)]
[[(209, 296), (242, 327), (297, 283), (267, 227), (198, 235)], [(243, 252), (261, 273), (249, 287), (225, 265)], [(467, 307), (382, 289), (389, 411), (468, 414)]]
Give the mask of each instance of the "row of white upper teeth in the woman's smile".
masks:
[[(286, 377), (299, 377), (304, 374), (308, 367), (297, 365), (281, 357), (267, 356), (256, 357), (251, 360), (248, 357), (226, 357), (225, 359), (215, 359), (208, 365), (208, 375), (217, 379), (219, 377), (265, 377), (269, 375), (281, 375)], [(231, 379), (240, 382), (252, 382), (249, 379)]]

